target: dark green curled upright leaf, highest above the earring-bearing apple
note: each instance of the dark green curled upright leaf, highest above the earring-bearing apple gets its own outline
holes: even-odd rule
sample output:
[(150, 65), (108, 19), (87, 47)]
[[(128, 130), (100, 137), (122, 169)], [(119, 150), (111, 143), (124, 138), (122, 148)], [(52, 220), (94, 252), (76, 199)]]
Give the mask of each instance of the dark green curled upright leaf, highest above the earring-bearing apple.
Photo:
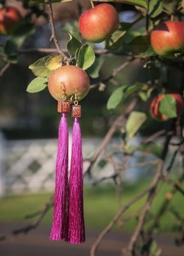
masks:
[(69, 54), (73, 56), (75, 55), (75, 52), (77, 51), (77, 49), (81, 47), (82, 43), (81, 43), (80, 36), (74, 31), (69, 30), (68, 34), (69, 34), (69, 40), (67, 42), (67, 50)]

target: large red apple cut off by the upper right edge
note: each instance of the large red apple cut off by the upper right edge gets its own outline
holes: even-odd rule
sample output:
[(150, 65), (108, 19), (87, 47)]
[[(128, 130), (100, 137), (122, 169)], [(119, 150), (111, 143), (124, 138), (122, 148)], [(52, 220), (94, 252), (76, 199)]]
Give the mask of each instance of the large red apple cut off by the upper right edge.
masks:
[(151, 45), (158, 55), (184, 51), (184, 23), (164, 21), (151, 32)]

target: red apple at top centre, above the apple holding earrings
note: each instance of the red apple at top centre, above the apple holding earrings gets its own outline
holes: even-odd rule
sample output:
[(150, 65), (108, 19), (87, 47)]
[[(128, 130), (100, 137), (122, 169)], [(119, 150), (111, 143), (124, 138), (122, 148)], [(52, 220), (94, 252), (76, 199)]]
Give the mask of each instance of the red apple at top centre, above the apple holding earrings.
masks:
[(81, 34), (90, 42), (100, 43), (118, 29), (119, 16), (110, 4), (99, 4), (85, 11), (79, 20)]

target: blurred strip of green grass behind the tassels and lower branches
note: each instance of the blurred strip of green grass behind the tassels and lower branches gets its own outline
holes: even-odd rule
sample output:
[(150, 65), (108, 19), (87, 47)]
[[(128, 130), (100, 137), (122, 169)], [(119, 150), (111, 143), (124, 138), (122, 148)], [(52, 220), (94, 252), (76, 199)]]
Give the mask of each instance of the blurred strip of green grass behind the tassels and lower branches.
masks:
[[(138, 185), (122, 186), (121, 200), (122, 204), (126, 204), (134, 196), (138, 195), (144, 188), (148, 186), (147, 182), (141, 182)], [(158, 208), (163, 202), (164, 196), (167, 191), (172, 187), (164, 185), (158, 192), (156, 199), (154, 199), (152, 213), (156, 213)], [(50, 193), (39, 193), (31, 195), (19, 195), (19, 196), (6, 196), (0, 199), (0, 222), (22, 222), (27, 214), (34, 213), (40, 210), (45, 202), (49, 199)], [(144, 204), (145, 198), (142, 198), (135, 205), (127, 211), (125, 216), (134, 212), (137, 208)], [(116, 192), (112, 185), (94, 186), (84, 189), (84, 212), (85, 212), (85, 224), (88, 229), (103, 228), (113, 218), (118, 211), (118, 202), (116, 200)], [(176, 193), (173, 198), (170, 207), (175, 207), (181, 216), (184, 216), (184, 204), (183, 197), (179, 192)], [(30, 220), (25, 220), (25, 222)], [(45, 218), (43, 224), (50, 224), (52, 221), (52, 210), (50, 210)], [(161, 218), (161, 227), (164, 231), (170, 231), (172, 224), (175, 223), (175, 218), (167, 211)], [(136, 220), (128, 221), (123, 226), (123, 230), (131, 231), (136, 224)]]

